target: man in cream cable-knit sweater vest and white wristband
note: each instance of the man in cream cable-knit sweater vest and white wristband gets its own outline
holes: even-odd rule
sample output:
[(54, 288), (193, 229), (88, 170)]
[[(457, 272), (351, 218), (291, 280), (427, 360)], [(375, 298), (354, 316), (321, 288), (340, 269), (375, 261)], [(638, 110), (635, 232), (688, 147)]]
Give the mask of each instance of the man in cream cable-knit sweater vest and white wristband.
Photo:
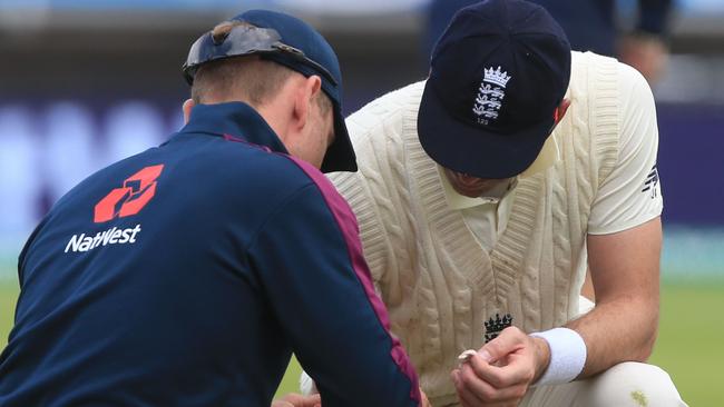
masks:
[(331, 178), (433, 406), (685, 406), (645, 364), (663, 202), (638, 72), (490, 0), (456, 14), (427, 81), (348, 128), (360, 170)]

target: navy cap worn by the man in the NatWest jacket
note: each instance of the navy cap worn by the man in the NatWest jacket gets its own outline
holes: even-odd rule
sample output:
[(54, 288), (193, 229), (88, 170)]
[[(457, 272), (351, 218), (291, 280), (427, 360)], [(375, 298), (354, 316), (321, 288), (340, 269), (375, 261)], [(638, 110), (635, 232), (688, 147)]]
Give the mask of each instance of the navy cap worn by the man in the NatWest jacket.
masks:
[[(187, 80), (193, 81), (196, 69), (209, 61), (256, 53), (261, 58), (281, 63), (305, 77), (322, 79), (322, 90), (332, 101), (334, 116), (334, 141), (327, 148), (322, 162), (323, 172), (356, 171), (356, 158), (342, 116), (342, 72), (332, 47), (324, 37), (306, 22), (281, 12), (250, 10), (232, 19), (244, 21), (260, 29), (232, 34), (221, 43), (209, 33), (192, 47), (184, 66)], [(236, 42), (236, 43), (233, 43)]]

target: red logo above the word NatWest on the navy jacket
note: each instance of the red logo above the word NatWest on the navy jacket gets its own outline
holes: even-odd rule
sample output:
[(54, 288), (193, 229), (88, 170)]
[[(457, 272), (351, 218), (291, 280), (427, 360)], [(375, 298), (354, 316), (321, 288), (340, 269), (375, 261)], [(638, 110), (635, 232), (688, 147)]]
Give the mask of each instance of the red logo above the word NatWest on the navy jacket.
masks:
[(146, 167), (124, 181), (123, 188), (115, 188), (96, 204), (94, 221), (107, 222), (138, 214), (156, 195), (156, 179), (164, 165)]

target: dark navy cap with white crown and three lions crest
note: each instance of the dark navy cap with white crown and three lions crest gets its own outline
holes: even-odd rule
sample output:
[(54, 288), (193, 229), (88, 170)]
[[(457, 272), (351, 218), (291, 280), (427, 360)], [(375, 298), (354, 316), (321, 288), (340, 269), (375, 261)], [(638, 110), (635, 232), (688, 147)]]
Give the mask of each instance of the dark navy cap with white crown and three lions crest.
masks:
[(540, 6), (487, 0), (461, 9), (438, 41), (418, 113), (442, 167), (509, 178), (536, 159), (570, 79), (570, 44)]

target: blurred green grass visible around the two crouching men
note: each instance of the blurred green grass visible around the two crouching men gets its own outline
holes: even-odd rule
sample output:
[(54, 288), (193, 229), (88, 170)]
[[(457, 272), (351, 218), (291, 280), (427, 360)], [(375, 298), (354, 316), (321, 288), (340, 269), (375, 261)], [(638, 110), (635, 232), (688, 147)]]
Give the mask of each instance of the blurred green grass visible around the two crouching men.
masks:
[[(0, 348), (12, 326), (18, 287), (0, 280)], [(662, 287), (658, 341), (650, 358), (674, 379), (691, 406), (715, 406), (724, 399), (724, 281), (666, 282)], [(292, 360), (277, 395), (297, 391), (300, 366)]]

